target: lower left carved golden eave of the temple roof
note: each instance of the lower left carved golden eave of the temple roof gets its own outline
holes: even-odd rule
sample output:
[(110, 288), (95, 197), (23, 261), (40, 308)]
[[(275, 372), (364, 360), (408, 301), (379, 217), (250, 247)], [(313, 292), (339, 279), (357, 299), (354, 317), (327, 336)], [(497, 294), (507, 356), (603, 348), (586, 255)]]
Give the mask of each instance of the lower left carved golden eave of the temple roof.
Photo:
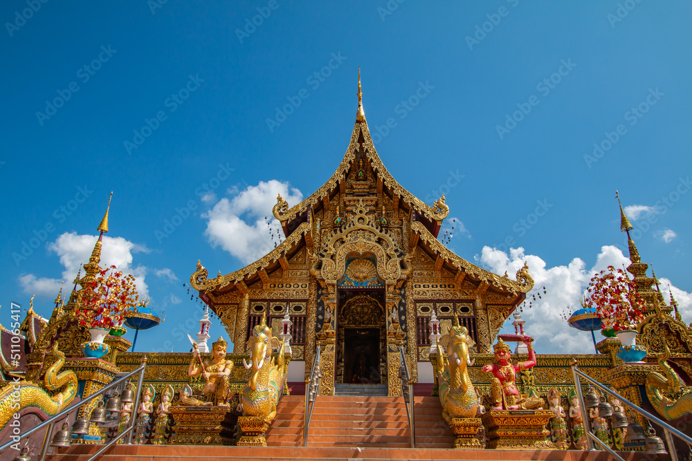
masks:
[(295, 232), (286, 237), (286, 240), (262, 258), (250, 265), (246, 265), (240, 270), (217, 276), (215, 279), (207, 279), (206, 268), (201, 265), (200, 261), (197, 261), (197, 270), (190, 276), (190, 286), (198, 290), (202, 299), (208, 302), (208, 299), (205, 299), (203, 296), (203, 292), (226, 292), (237, 288), (237, 285), (241, 283), (251, 285), (251, 283), (254, 283), (256, 280), (264, 281), (264, 277), (267, 273), (271, 273), (285, 264), (286, 255), (293, 254), (295, 251), (300, 250), (302, 246), (306, 245), (304, 236), (305, 234), (309, 234), (311, 231), (310, 227), (309, 222), (302, 223), (298, 226), (298, 229), (295, 229)]

